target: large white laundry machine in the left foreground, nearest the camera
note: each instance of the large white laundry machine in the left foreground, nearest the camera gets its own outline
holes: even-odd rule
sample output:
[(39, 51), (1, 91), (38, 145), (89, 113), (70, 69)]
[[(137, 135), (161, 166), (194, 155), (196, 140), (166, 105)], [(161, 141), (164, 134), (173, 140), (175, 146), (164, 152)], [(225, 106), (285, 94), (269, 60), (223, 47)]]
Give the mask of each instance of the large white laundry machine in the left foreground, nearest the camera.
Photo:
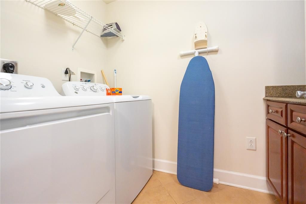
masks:
[(114, 203), (114, 103), (0, 73), (1, 203)]

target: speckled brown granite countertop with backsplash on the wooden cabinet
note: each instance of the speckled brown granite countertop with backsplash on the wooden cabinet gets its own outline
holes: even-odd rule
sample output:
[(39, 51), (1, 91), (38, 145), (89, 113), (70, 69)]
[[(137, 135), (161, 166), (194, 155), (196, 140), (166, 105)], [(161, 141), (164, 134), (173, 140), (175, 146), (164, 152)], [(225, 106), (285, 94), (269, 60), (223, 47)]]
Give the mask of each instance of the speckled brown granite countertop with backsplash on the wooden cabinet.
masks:
[(306, 91), (306, 85), (265, 86), (264, 100), (284, 101), (291, 104), (306, 104), (304, 97), (297, 98), (296, 91)]

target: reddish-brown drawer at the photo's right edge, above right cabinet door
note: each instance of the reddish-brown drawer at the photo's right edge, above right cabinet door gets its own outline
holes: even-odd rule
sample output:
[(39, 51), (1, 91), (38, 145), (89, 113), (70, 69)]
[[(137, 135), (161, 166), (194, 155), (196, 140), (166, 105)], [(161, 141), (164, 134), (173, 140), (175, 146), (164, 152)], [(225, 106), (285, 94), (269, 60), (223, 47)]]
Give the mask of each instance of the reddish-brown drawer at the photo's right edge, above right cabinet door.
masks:
[(306, 134), (306, 106), (288, 104), (288, 127)]

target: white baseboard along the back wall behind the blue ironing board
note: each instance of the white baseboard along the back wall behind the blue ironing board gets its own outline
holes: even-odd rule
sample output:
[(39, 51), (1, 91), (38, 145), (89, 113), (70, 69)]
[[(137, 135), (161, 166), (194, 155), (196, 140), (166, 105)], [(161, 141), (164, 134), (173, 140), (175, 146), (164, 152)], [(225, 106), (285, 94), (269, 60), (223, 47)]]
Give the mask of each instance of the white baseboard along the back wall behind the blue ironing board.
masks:
[[(176, 174), (177, 162), (153, 159), (153, 170)], [(267, 185), (266, 177), (263, 176), (254, 176), (214, 168), (214, 178), (219, 179), (219, 183), (224, 185), (272, 194), (270, 187)]]

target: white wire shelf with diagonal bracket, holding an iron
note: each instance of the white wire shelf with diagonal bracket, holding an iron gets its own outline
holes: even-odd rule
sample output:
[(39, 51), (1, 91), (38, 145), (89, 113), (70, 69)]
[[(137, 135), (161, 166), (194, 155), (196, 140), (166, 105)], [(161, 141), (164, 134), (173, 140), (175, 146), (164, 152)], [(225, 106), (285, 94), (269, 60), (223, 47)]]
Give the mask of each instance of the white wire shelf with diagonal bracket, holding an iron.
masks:
[[(42, 9), (46, 9), (59, 17), (62, 17), (66, 21), (82, 28), (80, 36), (83, 34), (84, 30), (90, 32), (98, 37), (112, 37), (117, 36), (124, 40), (124, 36), (119, 32), (115, 31), (113, 28), (106, 26), (95, 17), (92, 17), (79, 7), (75, 6), (73, 3), (67, 0), (26, 0), (38, 6)], [(102, 36), (103, 35), (103, 36)], [(76, 40), (79, 40), (80, 36)], [(73, 44), (76, 44), (76, 42)]]

